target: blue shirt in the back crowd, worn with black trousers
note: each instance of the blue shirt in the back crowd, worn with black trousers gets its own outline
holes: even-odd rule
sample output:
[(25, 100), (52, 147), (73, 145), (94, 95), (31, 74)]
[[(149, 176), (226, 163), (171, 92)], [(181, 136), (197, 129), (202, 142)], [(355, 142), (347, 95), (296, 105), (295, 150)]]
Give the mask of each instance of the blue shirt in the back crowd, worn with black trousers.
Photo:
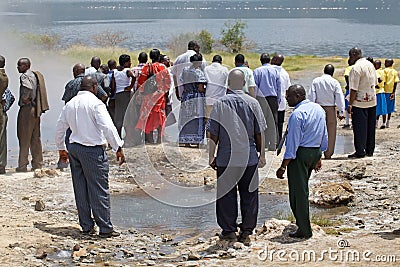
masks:
[(281, 76), (279, 71), (270, 64), (264, 64), (254, 70), (254, 80), (257, 85), (256, 96), (276, 96), (281, 102)]

